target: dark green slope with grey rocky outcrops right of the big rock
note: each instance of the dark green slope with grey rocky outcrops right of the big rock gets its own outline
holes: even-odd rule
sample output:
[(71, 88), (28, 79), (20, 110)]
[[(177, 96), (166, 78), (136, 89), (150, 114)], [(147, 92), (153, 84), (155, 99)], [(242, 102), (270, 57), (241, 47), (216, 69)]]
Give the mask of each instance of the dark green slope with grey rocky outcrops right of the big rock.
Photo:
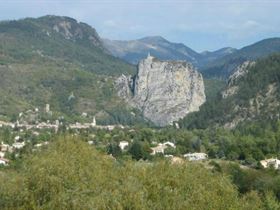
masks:
[(234, 128), (246, 121), (277, 120), (279, 101), (280, 55), (277, 54), (238, 67), (224, 91), (202, 105), (199, 112), (181, 120), (180, 125)]

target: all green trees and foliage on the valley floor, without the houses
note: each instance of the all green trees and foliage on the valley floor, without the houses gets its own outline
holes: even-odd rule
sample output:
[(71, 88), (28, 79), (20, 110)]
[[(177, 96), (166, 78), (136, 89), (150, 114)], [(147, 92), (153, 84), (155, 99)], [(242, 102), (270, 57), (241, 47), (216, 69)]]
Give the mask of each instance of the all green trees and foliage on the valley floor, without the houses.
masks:
[[(0, 129), (0, 140), (13, 142), (18, 133)], [(234, 130), (61, 128), (21, 138), (27, 145), (0, 169), (0, 209), (280, 208), (280, 173), (259, 164), (279, 158), (280, 122)], [(122, 151), (120, 141), (130, 144)], [(209, 160), (152, 156), (150, 147), (165, 141), (176, 144), (167, 155), (205, 152)]]

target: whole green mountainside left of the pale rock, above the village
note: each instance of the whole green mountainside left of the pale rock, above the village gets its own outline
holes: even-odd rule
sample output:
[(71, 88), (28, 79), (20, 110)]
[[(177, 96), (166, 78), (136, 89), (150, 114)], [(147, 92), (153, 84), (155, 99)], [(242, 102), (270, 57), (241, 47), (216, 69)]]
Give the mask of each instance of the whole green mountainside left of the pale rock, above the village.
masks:
[[(45, 16), (0, 22), (0, 117), (43, 110), (99, 123), (142, 119), (114, 91), (114, 78), (133, 74), (133, 66), (108, 54), (96, 31), (68, 17)], [(132, 114), (131, 114), (132, 113)]]

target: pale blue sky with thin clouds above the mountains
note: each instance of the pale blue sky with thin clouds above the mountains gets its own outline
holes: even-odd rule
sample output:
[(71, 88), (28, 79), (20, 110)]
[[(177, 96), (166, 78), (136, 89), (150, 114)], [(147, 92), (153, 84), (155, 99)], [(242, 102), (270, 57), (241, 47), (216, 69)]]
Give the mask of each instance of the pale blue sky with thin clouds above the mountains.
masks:
[(0, 20), (69, 16), (102, 38), (162, 36), (202, 52), (280, 37), (280, 0), (0, 0)]

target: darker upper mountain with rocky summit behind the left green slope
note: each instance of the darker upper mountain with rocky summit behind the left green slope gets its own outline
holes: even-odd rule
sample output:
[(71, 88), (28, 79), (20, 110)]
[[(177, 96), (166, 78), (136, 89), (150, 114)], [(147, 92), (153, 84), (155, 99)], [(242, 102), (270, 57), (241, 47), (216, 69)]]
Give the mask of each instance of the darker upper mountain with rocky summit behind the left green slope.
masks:
[(69, 62), (99, 74), (133, 72), (108, 54), (95, 29), (69, 17), (0, 22), (0, 63)]

